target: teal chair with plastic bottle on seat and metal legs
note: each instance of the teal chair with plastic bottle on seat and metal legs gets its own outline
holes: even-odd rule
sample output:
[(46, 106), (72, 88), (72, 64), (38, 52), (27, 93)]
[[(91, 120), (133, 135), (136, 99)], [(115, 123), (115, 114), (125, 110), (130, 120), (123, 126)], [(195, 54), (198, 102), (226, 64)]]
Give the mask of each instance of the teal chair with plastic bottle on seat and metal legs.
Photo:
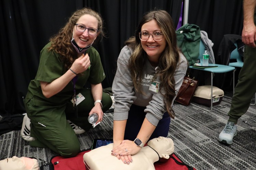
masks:
[[(200, 61), (198, 64), (202, 65), (203, 62), (203, 53), (204, 53), (204, 44), (202, 42), (202, 40), (200, 41), (200, 46), (199, 46), (199, 56), (198, 56), (198, 60)], [(211, 72), (211, 109), (207, 110), (204, 109), (200, 106), (197, 106), (193, 103), (191, 103), (192, 105), (199, 107), (201, 109), (203, 109), (204, 111), (207, 112), (211, 112), (212, 111), (212, 102), (213, 102), (213, 98), (212, 98), (212, 88), (213, 88), (213, 73), (225, 73), (225, 72), (229, 72), (229, 71), (233, 71), (233, 77), (234, 77), (234, 71), (235, 71), (235, 67), (231, 67), (231, 66), (226, 66), (226, 65), (221, 65), (221, 64), (210, 64), (209, 66), (218, 66), (218, 67), (213, 67), (213, 68), (197, 68), (197, 67), (193, 67), (193, 65), (189, 66), (190, 69), (196, 69), (196, 70), (202, 70), (202, 71), (208, 71)], [(234, 80), (233, 80), (234, 83)], [(234, 90), (233, 90), (234, 91)]]

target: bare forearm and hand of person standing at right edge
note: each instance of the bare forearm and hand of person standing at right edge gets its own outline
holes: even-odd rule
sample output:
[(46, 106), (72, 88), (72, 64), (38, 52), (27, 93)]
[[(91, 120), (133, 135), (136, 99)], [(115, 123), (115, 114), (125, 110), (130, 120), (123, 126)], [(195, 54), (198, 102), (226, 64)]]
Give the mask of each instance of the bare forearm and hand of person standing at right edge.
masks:
[(255, 12), (256, 0), (244, 0), (243, 1), (243, 31), (242, 41), (244, 44), (250, 47), (256, 47), (256, 27), (254, 24), (254, 12)]

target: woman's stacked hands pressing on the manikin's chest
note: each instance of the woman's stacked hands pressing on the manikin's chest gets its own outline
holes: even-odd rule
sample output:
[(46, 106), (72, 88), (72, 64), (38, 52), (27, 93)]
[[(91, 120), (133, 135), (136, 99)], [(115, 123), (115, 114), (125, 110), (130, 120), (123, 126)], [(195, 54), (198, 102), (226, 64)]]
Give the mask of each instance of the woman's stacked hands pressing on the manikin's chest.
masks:
[(131, 140), (123, 140), (120, 145), (114, 143), (111, 155), (115, 155), (118, 159), (121, 159), (123, 163), (130, 164), (132, 162), (131, 155), (134, 155), (140, 151), (141, 147), (138, 147)]

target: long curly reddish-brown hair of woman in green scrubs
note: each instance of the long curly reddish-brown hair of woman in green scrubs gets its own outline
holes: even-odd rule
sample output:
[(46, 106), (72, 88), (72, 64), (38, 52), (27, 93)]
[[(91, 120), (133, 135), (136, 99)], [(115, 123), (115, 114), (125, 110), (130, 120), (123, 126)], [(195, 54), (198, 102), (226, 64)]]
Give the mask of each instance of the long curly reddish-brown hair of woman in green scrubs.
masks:
[(77, 20), (79, 20), (79, 18), (85, 14), (94, 16), (98, 20), (99, 35), (97, 38), (99, 37), (101, 39), (103, 36), (105, 36), (103, 32), (103, 20), (99, 13), (88, 7), (75, 11), (69, 18), (66, 25), (60, 29), (59, 33), (50, 38), (52, 45), (49, 47), (49, 50), (54, 50), (61, 55), (61, 61), (66, 70), (71, 67), (74, 60), (77, 58), (77, 52), (71, 44), (71, 39)]

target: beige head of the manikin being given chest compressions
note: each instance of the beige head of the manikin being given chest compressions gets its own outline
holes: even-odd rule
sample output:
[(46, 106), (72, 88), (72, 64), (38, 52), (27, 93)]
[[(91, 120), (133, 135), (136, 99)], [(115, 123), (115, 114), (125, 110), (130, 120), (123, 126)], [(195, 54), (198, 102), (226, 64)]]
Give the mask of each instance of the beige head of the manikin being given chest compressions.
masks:
[(169, 155), (174, 152), (174, 143), (172, 139), (166, 137), (158, 137), (151, 139), (147, 145), (154, 149), (160, 158), (169, 159)]

